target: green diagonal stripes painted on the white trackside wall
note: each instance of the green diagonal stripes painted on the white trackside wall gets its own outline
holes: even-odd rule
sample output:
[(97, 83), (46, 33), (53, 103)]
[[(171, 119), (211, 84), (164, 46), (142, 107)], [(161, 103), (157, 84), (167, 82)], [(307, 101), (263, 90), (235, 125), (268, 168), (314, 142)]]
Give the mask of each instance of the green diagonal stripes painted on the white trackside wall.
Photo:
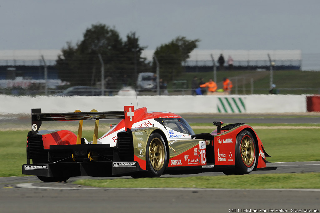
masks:
[(217, 108), (220, 113), (246, 112), (244, 97), (218, 97)]

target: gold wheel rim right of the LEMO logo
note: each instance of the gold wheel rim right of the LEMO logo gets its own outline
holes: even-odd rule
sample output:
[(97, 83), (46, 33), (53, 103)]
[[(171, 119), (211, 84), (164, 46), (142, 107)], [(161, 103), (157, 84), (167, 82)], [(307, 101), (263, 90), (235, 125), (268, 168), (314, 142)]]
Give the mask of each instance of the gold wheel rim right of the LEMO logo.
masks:
[(252, 166), (254, 161), (254, 145), (249, 136), (244, 136), (240, 145), (241, 158), (247, 167)]

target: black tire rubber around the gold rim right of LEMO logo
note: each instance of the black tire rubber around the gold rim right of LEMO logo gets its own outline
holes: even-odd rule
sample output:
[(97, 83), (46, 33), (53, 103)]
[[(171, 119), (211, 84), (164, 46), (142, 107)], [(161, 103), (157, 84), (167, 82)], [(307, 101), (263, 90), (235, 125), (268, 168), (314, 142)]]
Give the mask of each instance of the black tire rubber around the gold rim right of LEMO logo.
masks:
[[(248, 167), (244, 164), (242, 157), (241, 157), (241, 141), (245, 136), (248, 136), (251, 138), (251, 140), (253, 142), (253, 147), (254, 147), (254, 160), (252, 162), (252, 165), (250, 165), (250, 167)], [(240, 174), (249, 174), (253, 170), (253, 168), (255, 167), (255, 164), (257, 161), (257, 147), (256, 147), (254, 137), (247, 130), (242, 131), (236, 138), (235, 159), (236, 159), (236, 170)]]

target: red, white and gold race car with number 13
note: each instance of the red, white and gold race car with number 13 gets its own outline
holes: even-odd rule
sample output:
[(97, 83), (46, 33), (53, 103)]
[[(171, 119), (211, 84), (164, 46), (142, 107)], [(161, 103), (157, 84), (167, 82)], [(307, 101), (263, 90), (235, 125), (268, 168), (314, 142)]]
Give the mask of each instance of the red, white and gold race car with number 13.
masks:
[[(159, 177), (222, 171), (248, 174), (267, 167), (262, 142), (244, 123), (222, 126), (213, 121), (211, 133), (195, 134), (179, 115), (148, 112), (147, 108), (124, 111), (41, 113), (32, 109), (32, 130), (27, 139), (27, 164), (22, 174), (45, 182), (66, 181), (70, 176)], [(99, 139), (100, 119), (122, 119)], [(39, 130), (42, 121), (79, 120), (78, 134), (68, 130)], [(96, 120), (92, 141), (82, 138), (83, 120)], [(30, 161), (32, 159), (32, 163)]]

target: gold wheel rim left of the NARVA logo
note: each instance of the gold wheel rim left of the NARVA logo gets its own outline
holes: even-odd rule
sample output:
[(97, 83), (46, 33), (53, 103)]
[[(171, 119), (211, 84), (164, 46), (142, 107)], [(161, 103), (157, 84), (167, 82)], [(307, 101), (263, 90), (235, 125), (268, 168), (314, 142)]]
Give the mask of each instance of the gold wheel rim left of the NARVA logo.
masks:
[(154, 138), (150, 142), (149, 146), (149, 160), (151, 166), (159, 171), (164, 165), (164, 146), (159, 138)]

